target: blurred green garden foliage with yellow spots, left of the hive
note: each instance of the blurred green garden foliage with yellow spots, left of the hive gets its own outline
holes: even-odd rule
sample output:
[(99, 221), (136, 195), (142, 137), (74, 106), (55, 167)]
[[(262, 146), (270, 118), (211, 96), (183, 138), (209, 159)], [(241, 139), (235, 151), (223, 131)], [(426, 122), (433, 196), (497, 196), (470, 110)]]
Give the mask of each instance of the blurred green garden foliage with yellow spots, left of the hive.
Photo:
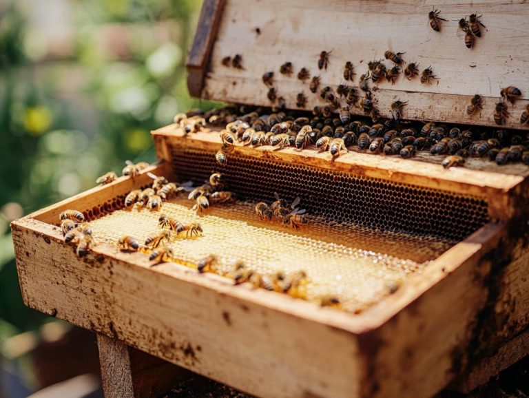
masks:
[(212, 106), (185, 85), (202, 1), (64, 2), (72, 45), (59, 55), (28, 10), (0, 6), (0, 339), (45, 320), (22, 304), (9, 222), (121, 172), (124, 160), (154, 162), (150, 130)]

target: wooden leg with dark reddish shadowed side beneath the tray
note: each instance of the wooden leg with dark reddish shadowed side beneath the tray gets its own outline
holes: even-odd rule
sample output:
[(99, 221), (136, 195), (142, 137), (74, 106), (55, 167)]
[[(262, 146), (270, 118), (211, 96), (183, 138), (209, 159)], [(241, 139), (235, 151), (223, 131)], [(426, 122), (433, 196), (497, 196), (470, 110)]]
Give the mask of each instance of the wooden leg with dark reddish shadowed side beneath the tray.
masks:
[(97, 335), (97, 345), (105, 398), (159, 397), (192, 375), (105, 335)]

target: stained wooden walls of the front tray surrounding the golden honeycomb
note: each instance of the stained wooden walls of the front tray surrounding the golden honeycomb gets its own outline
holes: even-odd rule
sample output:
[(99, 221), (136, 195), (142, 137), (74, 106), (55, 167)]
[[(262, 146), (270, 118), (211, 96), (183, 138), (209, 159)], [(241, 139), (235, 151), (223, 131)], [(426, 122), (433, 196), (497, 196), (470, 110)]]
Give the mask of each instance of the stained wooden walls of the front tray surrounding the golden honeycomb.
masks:
[(149, 268), (105, 244), (79, 259), (50, 224), (148, 180), (120, 178), (12, 223), (28, 306), (262, 397), (428, 397), (528, 333), (529, 251), (512, 222), (487, 224), (360, 315), (178, 264)]

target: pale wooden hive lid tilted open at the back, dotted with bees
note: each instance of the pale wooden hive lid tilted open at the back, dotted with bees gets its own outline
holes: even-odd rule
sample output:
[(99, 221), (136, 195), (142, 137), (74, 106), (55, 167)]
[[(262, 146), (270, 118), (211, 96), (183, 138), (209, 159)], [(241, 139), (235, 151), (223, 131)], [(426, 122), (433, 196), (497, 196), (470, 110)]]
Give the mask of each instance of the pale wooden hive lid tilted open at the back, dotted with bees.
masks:
[[(529, 7), (523, 1), (487, 1), (436, 5), (443, 17), (440, 32), (428, 24), (433, 3), (376, 0), (205, 0), (194, 43), (187, 60), (188, 87), (192, 95), (205, 99), (270, 106), (264, 72), (273, 71), (278, 96), (287, 108), (296, 105), (303, 92), (303, 109), (324, 105), (319, 91), (309, 90), (297, 74), (306, 67), (311, 76), (320, 75), (321, 87), (344, 83), (346, 61), (355, 68), (353, 86), (367, 64), (384, 59), (384, 52), (406, 52), (406, 62), (419, 63), (419, 70), (431, 65), (438, 84), (422, 84), (418, 76), (408, 81), (400, 74), (395, 85), (382, 81), (369, 85), (382, 116), (390, 117), (393, 101), (408, 101), (403, 117), (428, 121), (450, 121), (496, 126), (493, 112), (502, 87), (518, 87), (523, 99), (505, 127), (521, 126), (519, 117), (529, 103)], [(481, 37), (469, 50), (457, 20), (476, 12), (482, 14)], [(453, 21), (455, 20), (455, 21)], [(327, 70), (318, 70), (322, 50), (331, 51)], [(242, 55), (244, 69), (222, 65), (225, 56)], [(294, 73), (280, 74), (284, 62), (293, 63)], [(384, 60), (391, 67), (393, 64)], [(406, 65), (406, 64), (404, 64)], [(351, 83), (350, 83), (351, 84)], [(375, 88), (376, 87), (376, 88)], [(484, 109), (467, 116), (466, 107), (474, 94), (484, 96)], [(351, 112), (362, 114), (351, 107)]]

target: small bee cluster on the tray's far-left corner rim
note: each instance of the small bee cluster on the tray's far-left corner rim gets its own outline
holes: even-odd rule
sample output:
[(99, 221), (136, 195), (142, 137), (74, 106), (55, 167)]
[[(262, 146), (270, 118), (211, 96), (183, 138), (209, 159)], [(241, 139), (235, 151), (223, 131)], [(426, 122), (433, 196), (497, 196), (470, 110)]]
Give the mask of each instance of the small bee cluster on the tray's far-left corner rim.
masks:
[(85, 223), (81, 211), (65, 210), (59, 215), (64, 242), (76, 245), (76, 254), (84, 257), (95, 244), (92, 229)]

